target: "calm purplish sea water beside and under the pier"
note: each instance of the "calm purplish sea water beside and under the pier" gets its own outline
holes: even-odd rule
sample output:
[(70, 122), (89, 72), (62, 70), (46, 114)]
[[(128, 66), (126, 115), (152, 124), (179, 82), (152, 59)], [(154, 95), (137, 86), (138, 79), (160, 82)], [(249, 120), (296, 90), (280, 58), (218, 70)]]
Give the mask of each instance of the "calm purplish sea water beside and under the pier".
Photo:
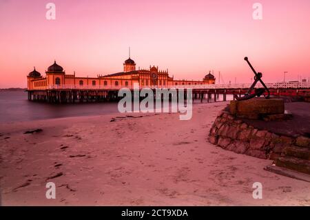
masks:
[[(220, 100), (222, 98), (220, 96)], [(227, 100), (230, 98), (232, 97), (227, 96)], [(200, 101), (194, 100), (194, 103), (200, 103)], [(118, 112), (116, 102), (51, 105), (28, 101), (27, 92), (0, 92), (0, 122), (90, 116), (116, 112)]]

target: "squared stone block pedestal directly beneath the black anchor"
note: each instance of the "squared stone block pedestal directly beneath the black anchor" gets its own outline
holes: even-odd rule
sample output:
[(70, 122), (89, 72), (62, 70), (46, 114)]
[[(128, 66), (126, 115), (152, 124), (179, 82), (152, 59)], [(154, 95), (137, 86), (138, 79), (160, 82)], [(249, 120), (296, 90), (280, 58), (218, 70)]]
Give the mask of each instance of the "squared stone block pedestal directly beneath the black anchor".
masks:
[(283, 99), (254, 98), (244, 101), (230, 101), (229, 110), (237, 117), (260, 119), (269, 114), (284, 114)]

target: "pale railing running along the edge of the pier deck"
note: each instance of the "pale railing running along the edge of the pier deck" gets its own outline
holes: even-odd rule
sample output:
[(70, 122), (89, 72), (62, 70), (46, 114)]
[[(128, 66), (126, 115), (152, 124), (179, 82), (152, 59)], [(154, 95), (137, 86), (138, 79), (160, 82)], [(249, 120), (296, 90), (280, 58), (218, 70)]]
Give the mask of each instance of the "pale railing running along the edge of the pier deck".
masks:
[[(251, 86), (251, 83), (236, 83), (236, 84), (205, 84), (205, 85), (170, 85), (170, 86), (139, 86), (139, 88), (192, 88), (192, 89), (247, 89)], [(266, 83), (267, 88), (271, 89), (302, 89), (309, 88), (309, 82), (292, 82), (292, 83)], [(49, 85), (49, 86), (40, 86), (34, 88), (34, 90), (54, 90), (54, 89), (76, 89), (76, 90), (119, 90), (121, 88), (133, 89), (134, 86), (104, 86), (104, 85), (85, 85), (85, 86), (76, 86), (76, 85)], [(256, 88), (262, 88), (262, 85), (258, 83)]]

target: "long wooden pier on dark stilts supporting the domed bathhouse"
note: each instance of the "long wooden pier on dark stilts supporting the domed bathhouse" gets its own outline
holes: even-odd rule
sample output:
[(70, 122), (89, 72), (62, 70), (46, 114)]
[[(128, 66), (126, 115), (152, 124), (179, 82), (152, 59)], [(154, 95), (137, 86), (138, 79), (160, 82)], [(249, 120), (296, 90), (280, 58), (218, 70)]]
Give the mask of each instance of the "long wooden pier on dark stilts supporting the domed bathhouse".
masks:
[[(304, 84), (276, 84), (267, 83), (270, 94), (273, 96), (291, 96), (291, 97), (308, 97), (310, 96), (310, 83)], [(193, 99), (200, 99), (207, 102), (218, 101), (220, 96), (223, 101), (227, 101), (227, 94), (237, 94), (242, 96), (246, 94), (249, 84), (238, 85), (192, 85), (192, 86), (170, 86), (166, 89), (175, 88), (177, 92), (184, 90), (184, 98), (186, 91), (192, 89)], [(127, 87), (126, 87), (127, 88)], [(157, 87), (147, 87), (154, 92), (154, 99), (156, 98), (155, 90)], [(259, 88), (259, 86), (258, 86)], [(46, 103), (83, 103), (83, 102), (104, 102), (104, 101), (118, 101), (123, 97), (118, 97), (118, 90), (121, 88), (96, 88), (92, 86), (85, 86), (79, 88), (70, 88), (70, 86), (49, 86), (48, 88), (40, 88), (39, 90), (27, 90), (28, 100), (42, 101)], [(134, 94), (133, 88), (127, 88)], [(143, 88), (139, 88), (140, 90)], [(171, 98), (171, 97), (170, 97)], [(142, 98), (141, 98), (142, 99)]]

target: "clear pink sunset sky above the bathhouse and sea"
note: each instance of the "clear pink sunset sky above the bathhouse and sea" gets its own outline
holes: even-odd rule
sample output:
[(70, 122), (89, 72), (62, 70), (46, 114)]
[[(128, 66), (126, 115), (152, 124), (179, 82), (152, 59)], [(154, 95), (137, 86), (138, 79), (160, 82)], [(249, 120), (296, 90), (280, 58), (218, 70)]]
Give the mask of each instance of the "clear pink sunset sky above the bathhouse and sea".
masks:
[[(45, 5), (56, 4), (56, 20)], [(252, 19), (262, 3), (263, 19)], [(169, 68), (175, 79), (218, 71), (249, 83), (249, 57), (266, 82), (310, 77), (310, 1), (0, 0), (0, 88), (26, 86), (26, 75), (54, 59), (68, 74), (123, 71), (127, 50), (137, 68)]]

